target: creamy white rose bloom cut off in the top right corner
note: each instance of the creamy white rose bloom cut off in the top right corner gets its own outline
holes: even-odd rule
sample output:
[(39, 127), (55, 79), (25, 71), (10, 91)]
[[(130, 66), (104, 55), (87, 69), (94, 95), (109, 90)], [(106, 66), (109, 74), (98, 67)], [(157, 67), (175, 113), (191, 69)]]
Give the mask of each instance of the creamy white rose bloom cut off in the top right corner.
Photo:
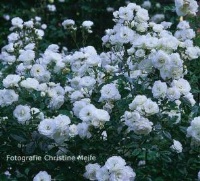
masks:
[(198, 4), (195, 0), (175, 0), (176, 13), (178, 16), (196, 15)]

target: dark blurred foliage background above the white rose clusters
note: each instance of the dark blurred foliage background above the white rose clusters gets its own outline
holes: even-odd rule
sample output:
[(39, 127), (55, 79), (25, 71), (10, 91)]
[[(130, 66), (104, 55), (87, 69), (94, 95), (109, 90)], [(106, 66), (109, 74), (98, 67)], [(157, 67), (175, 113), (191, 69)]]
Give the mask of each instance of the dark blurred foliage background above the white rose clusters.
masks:
[[(173, 0), (151, 0), (134, 2), (141, 4), (142, 7), (148, 9), (152, 14), (152, 20), (161, 22), (164, 18), (176, 21), (174, 18)], [(6, 44), (6, 37), (9, 34), (7, 31), (10, 28), (10, 20), (14, 17), (20, 17), (24, 20), (34, 19), (35, 17), (43, 22), (45, 29), (45, 38), (40, 42), (40, 50), (44, 49), (51, 43), (66, 46), (72, 50), (77, 47), (73, 43), (73, 39), (68, 36), (66, 31), (61, 29), (61, 23), (66, 18), (73, 18), (79, 25), (85, 20), (94, 22), (93, 38), (91, 35), (88, 38), (90, 45), (101, 51), (101, 37), (104, 30), (113, 26), (112, 12), (120, 6), (129, 3), (124, 0), (32, 0), (32, 1), (14, 1), (2, 0), (0, 4), (0, 23), (2, 31), (0, 32), (0, 47)], [(77, 34), (77, 44), (81, 47), (81, 33)]]

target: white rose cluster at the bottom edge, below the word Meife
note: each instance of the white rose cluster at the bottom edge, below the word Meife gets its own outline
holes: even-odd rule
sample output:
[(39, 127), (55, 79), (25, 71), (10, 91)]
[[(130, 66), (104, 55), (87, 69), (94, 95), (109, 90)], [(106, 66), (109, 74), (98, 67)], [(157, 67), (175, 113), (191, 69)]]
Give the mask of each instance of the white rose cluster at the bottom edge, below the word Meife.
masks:
[(98, 181), (130, 181), (135, 179), (135, 172), (120, 156), (112, 156), (107, 159), (104, 166), (97, 163), (88, 164), (85, 167), (84, 176), (89, 180)]

